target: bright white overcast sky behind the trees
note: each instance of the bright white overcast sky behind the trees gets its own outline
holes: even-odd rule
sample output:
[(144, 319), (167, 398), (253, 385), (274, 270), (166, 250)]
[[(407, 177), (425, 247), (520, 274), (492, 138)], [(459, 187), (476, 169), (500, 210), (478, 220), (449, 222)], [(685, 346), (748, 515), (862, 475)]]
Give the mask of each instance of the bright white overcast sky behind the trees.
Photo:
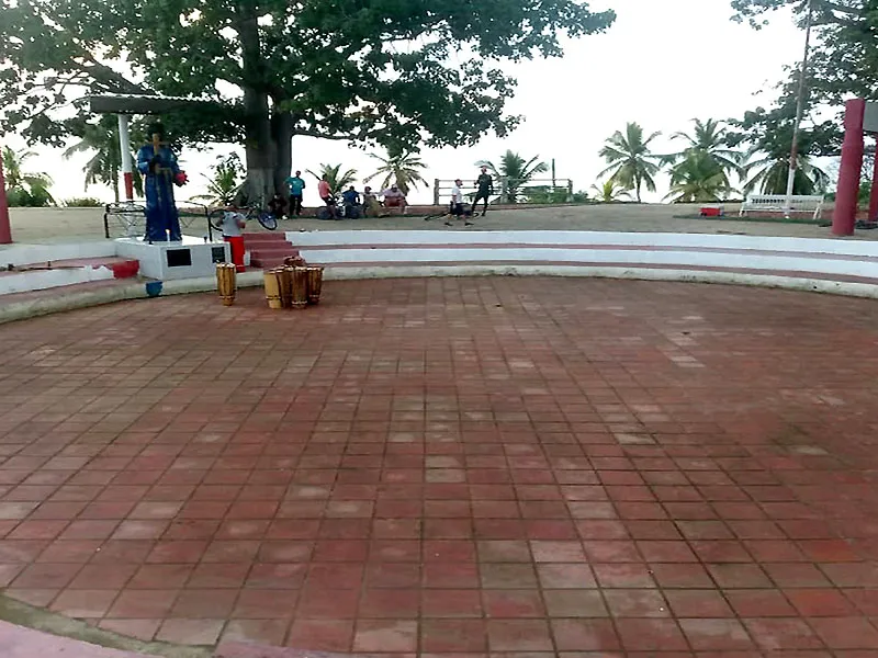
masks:
[[(425, 150), (425, 178), (471, 179), (473, 163), (496, 160), (507, 149), (526, 158), (555, 158), (558, 177), (573, 179), (576, 190), (587, 190), (605, 168), (598, 157), (604, 140), (626, 122), (637, 121), (649, 132), (661, 131), (656, 152), (673, 152), (667, 137), (687, 131), (694, 117), (742, 116), (757, 104), (770, 103), (772, 86), (781, 79), (785, 65), (801, 58), (803, 34), (788, 13), (773, 18), (759, 31), (730, 21), (729, 0), (593, 0), (595, 10), (611, 5), (617, 14), (604, 35), (588, 36), (566, 45), (563, 59), (534, 60), (513, 67), (518, 78), (511, 113), (526, 115), (525, 123), (506, 139), (489, 137), (475, 148)], [(756, 95), (761, 90), (767, 93)], [(22, 146), (15, 138), (10, 145)], [(230, 147), (228, 147), (230, 148)], [(78, 171), (87, 157), (64, 161), (59, 150), (37, 148), (40, 158), (29, 169), (43, 170), (55, 180), (58, 198), (82, 196)], [(185, 150), (181, 160), (192, 183), (178, 197), (203, 191), (202, 174), (217, 152)], [(372, 173), (374, 160), (346, 143), (299, 137), (293, 140), (293, 169), (314, 169), (320, 162), (344, 163), (360, 178)], [(315, 181), (308, 180), (305, 202), (314, 204)], [(361, 186), (361, 185), (360, 185)], [(658, 193), (644, 200), (660, 201), (667, 192), (664, 179)], [(109, 190), (92, 186), (90, 196), (111, 200)], [(413, 201), (431, 198), (430, 190)]]

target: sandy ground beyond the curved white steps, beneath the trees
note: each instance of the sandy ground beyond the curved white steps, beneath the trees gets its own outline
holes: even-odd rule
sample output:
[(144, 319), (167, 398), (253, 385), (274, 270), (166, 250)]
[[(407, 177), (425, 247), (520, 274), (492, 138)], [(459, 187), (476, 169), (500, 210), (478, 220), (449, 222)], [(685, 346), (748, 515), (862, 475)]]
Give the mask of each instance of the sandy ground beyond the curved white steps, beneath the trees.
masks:
[[(738, 208), (727, 207), (728, 218), (721, 220), (680, 218), (697, 215), (698, 206), (622, 204), (588, 205), (549, 208), (516, 208), (489, 211), (479, 217), (473, 230), (542, 229), (542, 230), (617, 230), (630, 232), (700, 232), (752, 236), (795, 236), (807, 238), (832, 237), (830, 229), (807, 224), (778, 222), (740, 222)], [(16, 242), (44, 243), (102, 239), (102, 208), (12, 208), (12, 238)], [(824, 216), (830, 216), (825, 213)], [(442, 222), (425, 222), (423, 217), (385, 217), (351, 222), (319, 222), (295, 219), (281, 222), (283, 230), (338, 229), (420, 229), (444, 230)], [(261, 230), (249, 226), (248, 230)], [(201, 236), (206, 227), (194, 222), (184, 232)], [(878, 231), (857, 231), (853, 239), (878, 239)]]

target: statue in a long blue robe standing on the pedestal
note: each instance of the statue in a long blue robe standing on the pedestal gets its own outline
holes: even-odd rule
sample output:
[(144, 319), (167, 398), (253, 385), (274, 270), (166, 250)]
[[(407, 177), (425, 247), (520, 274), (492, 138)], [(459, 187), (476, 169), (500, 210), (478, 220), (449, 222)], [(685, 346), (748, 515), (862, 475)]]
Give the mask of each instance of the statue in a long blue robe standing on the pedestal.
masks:
[(137, 169), (146, 177), (146, 240), (165, 242), (182, 240), (180, 216), (173, 200), (173, 183), (180, 167), (177, 156), (165, 145), (159, 146), (158, 161), (154, 162), (155, 150), (147, 144), (137, 151)]

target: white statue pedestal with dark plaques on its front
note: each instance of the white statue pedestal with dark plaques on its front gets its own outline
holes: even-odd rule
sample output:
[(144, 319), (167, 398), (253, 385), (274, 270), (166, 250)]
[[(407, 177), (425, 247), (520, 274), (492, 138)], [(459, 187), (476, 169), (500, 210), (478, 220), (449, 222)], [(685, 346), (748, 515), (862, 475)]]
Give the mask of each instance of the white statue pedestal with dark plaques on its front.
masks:
[(180, 242), (145, 242), (143, 238), (116, 239), (116, 254), (140, 261), (140, 274), (158, 281), (213, 276), (216, 263), (230, 263), (226, 242), (205, 242), (183, 236)]

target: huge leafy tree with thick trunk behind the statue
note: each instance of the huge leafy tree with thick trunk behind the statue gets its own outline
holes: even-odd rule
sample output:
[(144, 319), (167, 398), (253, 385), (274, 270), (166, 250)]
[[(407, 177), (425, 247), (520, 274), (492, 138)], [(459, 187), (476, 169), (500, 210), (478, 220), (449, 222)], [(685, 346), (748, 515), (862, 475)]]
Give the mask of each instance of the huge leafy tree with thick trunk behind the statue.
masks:
[[(562, 55), (615, 14), (579, 0), (0, 0), (0, 128), (58, 144), (86, 91), (215, 102), (190, 141), (243, 140), (247, 190), (290, 171), (291, 139), (428, 146), (505, 135), (504, 60)], [(80, 110), (82, 112), (83, 110)]]

